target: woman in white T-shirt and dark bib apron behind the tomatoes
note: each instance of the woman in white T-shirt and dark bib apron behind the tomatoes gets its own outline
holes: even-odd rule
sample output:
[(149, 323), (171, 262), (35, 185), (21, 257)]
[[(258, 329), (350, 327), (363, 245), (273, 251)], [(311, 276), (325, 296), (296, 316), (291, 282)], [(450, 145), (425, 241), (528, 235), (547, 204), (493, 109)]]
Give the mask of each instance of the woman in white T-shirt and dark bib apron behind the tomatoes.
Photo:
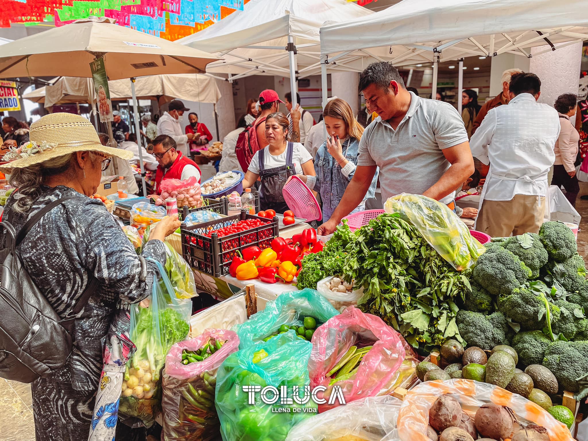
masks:
[(282, 188), (293, 175), (315, 176), (312, 156), (299, 142), (288, 142), (288, 118), (283, 113), (271, 113), (265, 120), (265, 137), (269, 145), (253, 156), (243, 179), (243, 189), (250, 188), (258, 178), (259, 202), (262, 210), (276, 213), (288, 210)]

